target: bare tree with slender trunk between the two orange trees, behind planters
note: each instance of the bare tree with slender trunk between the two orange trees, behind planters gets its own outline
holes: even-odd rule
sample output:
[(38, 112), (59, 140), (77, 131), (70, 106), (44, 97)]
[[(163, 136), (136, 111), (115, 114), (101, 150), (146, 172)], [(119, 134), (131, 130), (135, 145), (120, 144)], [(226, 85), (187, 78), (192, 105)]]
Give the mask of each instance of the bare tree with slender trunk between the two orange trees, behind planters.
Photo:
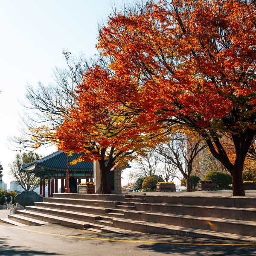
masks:
[(183, 175), (186, 189), (192, 192), (190, 175), (193, 169), (193, 161), (198, 153), (207, 145), (196, 136), (186, 134), (173, 134), (170, 141), (154, 148), (157, 154), (165, 157), (169, 163), (175, 166)]

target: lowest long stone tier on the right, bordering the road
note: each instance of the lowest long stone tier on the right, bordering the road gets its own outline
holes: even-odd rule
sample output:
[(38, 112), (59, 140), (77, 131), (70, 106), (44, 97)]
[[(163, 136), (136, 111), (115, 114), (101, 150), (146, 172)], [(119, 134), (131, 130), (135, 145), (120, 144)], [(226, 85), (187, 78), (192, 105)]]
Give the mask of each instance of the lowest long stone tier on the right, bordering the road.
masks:
[(124, 229), (135, 230), (135, 231), (139, 231), (141, 233), (256, 242), (255, 236), (254, 237), (253, 236), (241, 236), (241, 235), (237, 235), (237, 234), (217, 232), (217, 231), (207, 231), (206, 232), (206, 230), (203, 230), (203, 229), (180, 227), (180, 226), (169, 225), (169, 224), (159, 224), (159, 223), (154, 223), (154, 222), (149, 222), (149, 221), (114, 219), (113, 225), (114, 225), (114, 227), (122, 227)]

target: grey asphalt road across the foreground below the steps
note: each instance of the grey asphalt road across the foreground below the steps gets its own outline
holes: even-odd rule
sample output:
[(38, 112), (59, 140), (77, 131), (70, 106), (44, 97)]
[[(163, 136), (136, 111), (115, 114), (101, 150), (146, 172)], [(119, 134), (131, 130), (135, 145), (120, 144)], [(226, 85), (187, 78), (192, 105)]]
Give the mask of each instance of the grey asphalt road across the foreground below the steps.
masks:
[[(233, 245), (227, 245), (229, 243)], [(256, 255), (256, 244), (242, 243), (148, 234), (89, 233), (55, 224), (16, 227), (0, 222), (0, 256)]]

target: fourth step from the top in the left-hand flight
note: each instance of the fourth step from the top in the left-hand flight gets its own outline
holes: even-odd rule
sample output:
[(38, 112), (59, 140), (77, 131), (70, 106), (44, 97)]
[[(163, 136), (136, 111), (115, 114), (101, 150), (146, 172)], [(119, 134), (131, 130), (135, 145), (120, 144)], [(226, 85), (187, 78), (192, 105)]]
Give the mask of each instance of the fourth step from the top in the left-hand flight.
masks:
[(95, 215), (95, 214), (67, 211), (62, 209), (53, 209), (53, 208), (47, 208), (47, 207), (27, 206), (26, 210), (32, 211), (32, 212), (45, 213), (45, 214), (59, 216), (59, 217), (70, 218), (78, 221), (85, 221), (85, 222), (94, 222), (96, 220), (101, 219), (99, 215)]

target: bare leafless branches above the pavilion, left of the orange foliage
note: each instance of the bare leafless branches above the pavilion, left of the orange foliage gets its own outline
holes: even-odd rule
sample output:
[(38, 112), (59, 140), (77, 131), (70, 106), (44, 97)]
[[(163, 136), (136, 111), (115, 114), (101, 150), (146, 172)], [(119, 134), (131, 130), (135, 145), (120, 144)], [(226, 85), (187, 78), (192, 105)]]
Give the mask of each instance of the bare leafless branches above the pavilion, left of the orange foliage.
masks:
[(30, 111), (21, 117), (22, 135), (10, 139), (18, 150), (55, 143), (56, 127), (69, 115), (69, 110), (76, 107), (75, 89), (82, 82), (88, 64), (83, 55), (74, 58), (68, 51), (63, 51), (63, 55), (67, 68), (55, 68), (54, 83), (27, 87), (27, 102), (22, 105)]

